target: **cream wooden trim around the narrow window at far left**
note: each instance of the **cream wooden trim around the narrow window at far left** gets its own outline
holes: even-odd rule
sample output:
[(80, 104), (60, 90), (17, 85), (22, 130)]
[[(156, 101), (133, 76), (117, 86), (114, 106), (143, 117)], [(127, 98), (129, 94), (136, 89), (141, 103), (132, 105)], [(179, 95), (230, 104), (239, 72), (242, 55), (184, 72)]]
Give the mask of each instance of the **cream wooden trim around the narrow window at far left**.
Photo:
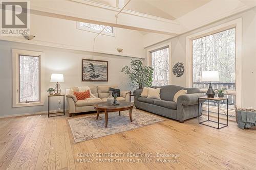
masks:
[[(19, 56), (39, 56), (39, 101), (19, 102)], [(12, 49), (12, 107), (41, 106), (45, 104), (44, 52)]]

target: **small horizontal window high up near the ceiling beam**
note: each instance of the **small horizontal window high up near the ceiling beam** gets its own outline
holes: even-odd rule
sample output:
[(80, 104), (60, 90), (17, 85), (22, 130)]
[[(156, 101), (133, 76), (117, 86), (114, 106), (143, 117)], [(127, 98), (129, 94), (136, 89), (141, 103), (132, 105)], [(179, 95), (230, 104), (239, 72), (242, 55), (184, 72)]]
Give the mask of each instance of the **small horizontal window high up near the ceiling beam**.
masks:
[(87, 22), (77, 22), (77, 29), (91, 31), (95, 33), (101, 32), (104, 35), (114, 35), (114, 29), (111, 26), (98, 25)]

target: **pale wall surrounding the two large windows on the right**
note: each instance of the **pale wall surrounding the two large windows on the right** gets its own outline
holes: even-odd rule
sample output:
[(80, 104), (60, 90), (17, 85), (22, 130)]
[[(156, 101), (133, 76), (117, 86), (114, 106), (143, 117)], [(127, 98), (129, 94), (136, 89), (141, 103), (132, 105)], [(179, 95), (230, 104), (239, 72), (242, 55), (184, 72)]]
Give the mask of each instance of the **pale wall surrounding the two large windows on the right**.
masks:
[[(252, 8), (243, 13), (228, 17), (221, 21), (215, 22), (207, 27), (203, 27), (192, 32), (182, 34), (161, 43), (171, 43), (171, 61), (172, 67), (177, 62), (181, 62), (186, 66), (186, 37), (203, 31), (205, 29), (218, 26), (227, 21), (242, 17), (242, 107), (253, 107), (256, 109), (256, 8)], [(161, 44), (159, 43), (159, 44)], [(145, 51), (159, 44), (147, 47)], [(146, 55), (146, 54), (145, 54)], [(146, 61), (145, 61), (146, 63)], [(186, 69), (186, 68), (185, 68)], [(182, 77), (171, 75), (172, 84), (186, 86), (186, 72)]]

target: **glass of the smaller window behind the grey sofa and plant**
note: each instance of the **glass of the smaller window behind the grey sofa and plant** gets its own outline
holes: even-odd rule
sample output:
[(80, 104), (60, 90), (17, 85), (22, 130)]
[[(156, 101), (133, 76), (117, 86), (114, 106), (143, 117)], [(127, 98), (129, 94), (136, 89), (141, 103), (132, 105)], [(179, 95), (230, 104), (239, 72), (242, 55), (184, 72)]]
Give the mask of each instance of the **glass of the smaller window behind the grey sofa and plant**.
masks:
[(153, 82), (155, 86), (169, 84), (169, 47), (151, 52), (151, 65), (154, 69)]

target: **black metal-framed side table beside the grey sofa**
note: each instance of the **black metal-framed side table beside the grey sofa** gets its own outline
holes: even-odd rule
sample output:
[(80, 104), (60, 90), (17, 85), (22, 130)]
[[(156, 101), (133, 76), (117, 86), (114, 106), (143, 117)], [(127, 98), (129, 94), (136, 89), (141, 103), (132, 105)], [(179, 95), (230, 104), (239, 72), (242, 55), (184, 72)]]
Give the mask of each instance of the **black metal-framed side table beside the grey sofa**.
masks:
[[(200, 122), (200, 99), (202, 100), (207, 100), (208, 102), (208, 109), (207, 109), (207, 120), (204, 120), (202, 122)], [(210, 120), (209, 119), (209, 101), (217, 101), (217, 107), (218, 107), (218, 122), (216, 122), (215, 120)], [(227, 124), (223, 124), (223, 123), (220, 123), (220, 118), (219, 118), (219, 101), (224, 101), (226, 100), (227, 101)], [(203, 104), (202, 104), (203, 105)], [(216, 123), (218, 124), (218, 127), (215, 127), (215, 126), (210, 126), (210, 125), (207, 125), (205, 124), (206, 122), (212, 122), (212, 123)], [(204, 96), (204, 97), (199, 97), (198, 98), (198, 123), (199, 124), (202, 124), (202, 125), (206, 125), (206, 126), (209, 126), (209, 127), (212, 127), (212, 128), (216, 128), (216, 129), (221, 129), (221, 128), (224, 128), (224, 127), (227, 127), (228, 126), (228, 98), (207, 98), (207, 96)]]

